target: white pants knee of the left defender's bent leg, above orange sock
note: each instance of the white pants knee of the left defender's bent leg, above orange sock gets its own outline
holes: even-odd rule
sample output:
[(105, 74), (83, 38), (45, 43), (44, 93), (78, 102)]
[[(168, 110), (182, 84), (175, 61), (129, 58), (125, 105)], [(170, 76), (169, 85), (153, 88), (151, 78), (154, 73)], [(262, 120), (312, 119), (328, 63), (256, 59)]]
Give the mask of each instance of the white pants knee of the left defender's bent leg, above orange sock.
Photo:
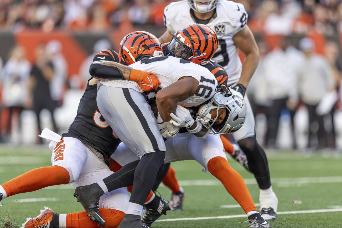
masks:
[(126, 213), (130, 196), (127, 188), (118, 188), (101, 196), (98, 201), (100, 208), (113, 209)]

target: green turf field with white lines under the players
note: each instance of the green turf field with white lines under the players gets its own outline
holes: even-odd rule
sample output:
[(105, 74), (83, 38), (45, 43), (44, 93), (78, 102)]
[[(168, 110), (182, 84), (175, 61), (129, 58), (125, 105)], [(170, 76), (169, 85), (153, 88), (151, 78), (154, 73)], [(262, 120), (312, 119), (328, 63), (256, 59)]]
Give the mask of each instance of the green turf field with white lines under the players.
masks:
[[(300, 152), (266, 151), (273, 189), (279, 199), (278, 215), (273, 228), (328, 228), (342, 226), (342, 158), (322, 157), (314, 154), (304, 156)], [(0, 147), (0, 184), (30, 169), (49, 166), (51, 152), (48, 147)], [(230, 164), (244, 177), (255, 203), (259, 203), (259, 190), (251, 174), (235, 161)], [(168, 212), (160, 219), (182, 220), (160, 221), (155, 228), (244, 228), (237, 223), (247, 220), (244, 211), (226, 192), (218, 180), (201, 172), (202, 167), (195, 161), (173, 163), (176, 175), (185, 190), (184, 210)], [(162, 197), (169, 199), (170, 191), (160, 187)], [(56, 213), (82, 211), (81, 204), (73, 197), (71, 185), (53, 186), (36, 192), (23, 193), (1, 201), (0, 228), (11, 222), (12, 227), (20, 227), (26, 217), (35, 217), (44, 206)], [(295, 204), (294, 200), (302, 201)], [(329, 211), (333, 209), (333, 211)], [(316, 211), (312, 211), (316, 210)], [(308, 213), (309, 211), (313, 213)], [(241, 215), (239, 217), (239, 215)], [(228, 218), (217, 218), (226, 216)], [(235, 216), (235, 217), (229, 217)], [(196, 219), (212, 217), (210, 219)], [(189, 220), (189, 218), (195, 218)], [(9, 226), (10, 227), (10, 226)], [(86, 228), (86, 227), (85, 227)]]

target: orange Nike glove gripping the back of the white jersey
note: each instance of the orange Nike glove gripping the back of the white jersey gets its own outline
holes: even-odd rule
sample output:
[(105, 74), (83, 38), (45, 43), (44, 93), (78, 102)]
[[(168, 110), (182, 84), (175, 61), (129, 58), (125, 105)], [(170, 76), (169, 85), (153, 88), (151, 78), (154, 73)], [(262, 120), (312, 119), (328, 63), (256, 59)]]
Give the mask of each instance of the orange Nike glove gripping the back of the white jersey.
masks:
[(139, 83), (143, 91), (150, 91), (158, 88), (159, 79), (151, 72), (132, 69), (129, 80)]

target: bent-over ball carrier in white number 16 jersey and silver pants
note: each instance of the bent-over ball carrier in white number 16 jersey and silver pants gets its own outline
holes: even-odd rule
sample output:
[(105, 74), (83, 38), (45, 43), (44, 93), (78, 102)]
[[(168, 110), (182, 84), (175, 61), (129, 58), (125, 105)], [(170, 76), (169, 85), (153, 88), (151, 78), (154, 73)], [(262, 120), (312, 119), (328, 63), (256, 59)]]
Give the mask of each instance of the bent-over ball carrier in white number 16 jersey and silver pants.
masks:
[[(194, 59), (209, 60), (217, 49), (215, 33), (208, 27), (205, 29), (206, 41), (212, 43), (211, 50), (205, 53), (191, 52), (190, 55), (193, 55)], [(133, 44), (135, 45), (136, 42), (139, 49), (148, 48), (140, 45), (143, 41), (144, 39), (136, 39)], [(158, 43), (156, 45), (160, 45)], [(97, 105), (102, 116), (120, 140), (134, 151), (140, 160), (124, 165), (115, 173), (116, 175), (110, 175), (91, 185), (77, 187), (74, 195), (92, 219), (104, 225), (98, 210), (98, 199), (104, 193), (120, 186), (132, 185), (134, 180), (128, 209), (119, 228), (147, 227), (142, 224), (140, 215), (156, 175), (164, 164), (166, 149), (162, 136), (172, 138), (179, 131), (179, 127), (172, 124), (170, 114), (175, 113), (177, 104), (189, 107), (209, 100), (216, 92), (217, 81), (208, 69), (171, 56), (143, 59), (129, 67), (107, 61), (93, 62), (93, 64), (111, 66), (113, 71), (124, 76), (130, 75), (132, 70), (139, 69), (150, 69), (149, 72), (155, 72), (161, 88), (156, 95), (156, 102), (166, 130), (162, 135), (159, 133), (157, 121), (141, 94), (139, 84), (131, 83), (129, 80), (98, 82)], [(205, 107), (204, 110), (208, 108)], [(220, 117), (224, 119), (225, 115), (223, 109)], [(215, 122), (221, 123), (222, 120), (217, 119)], [(199, 124), (196, 122), (192, 127), (196, 129)]]

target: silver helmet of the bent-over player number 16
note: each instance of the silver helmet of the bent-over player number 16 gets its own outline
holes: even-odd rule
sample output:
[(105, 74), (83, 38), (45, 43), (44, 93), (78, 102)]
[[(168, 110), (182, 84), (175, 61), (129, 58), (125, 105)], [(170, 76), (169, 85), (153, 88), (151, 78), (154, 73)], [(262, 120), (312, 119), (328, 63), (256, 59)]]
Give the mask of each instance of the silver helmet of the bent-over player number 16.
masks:
[[(221, 85), (222, 86), (222, 85)], [(228, 134), (239, 130), (246, 120), (246, 104), (242, 95), (229, 90), (226, 85), (209, 100), (209, 103), (202, 105), (198, 110), (196, 120), (200, 121), (206, 128), (214, 134)], [(215, 124), (219, 116), (219, 109), (226, 109), (226, 116), (221, 124)], [(216, 109), (216, 118), (211, 115), (212, 109)]]

